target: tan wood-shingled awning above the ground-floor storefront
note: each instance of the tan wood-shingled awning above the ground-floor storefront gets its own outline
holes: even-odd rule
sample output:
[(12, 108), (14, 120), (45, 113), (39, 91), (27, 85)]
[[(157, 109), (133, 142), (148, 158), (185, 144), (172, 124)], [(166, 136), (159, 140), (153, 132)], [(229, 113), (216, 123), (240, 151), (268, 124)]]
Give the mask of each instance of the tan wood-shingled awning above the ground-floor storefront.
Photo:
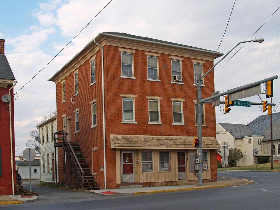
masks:
[[(193, 149), (195, 136), (110, 135), (112, 149)], [(217, 149), (215, 137), (202, 137), (203, 149)]]

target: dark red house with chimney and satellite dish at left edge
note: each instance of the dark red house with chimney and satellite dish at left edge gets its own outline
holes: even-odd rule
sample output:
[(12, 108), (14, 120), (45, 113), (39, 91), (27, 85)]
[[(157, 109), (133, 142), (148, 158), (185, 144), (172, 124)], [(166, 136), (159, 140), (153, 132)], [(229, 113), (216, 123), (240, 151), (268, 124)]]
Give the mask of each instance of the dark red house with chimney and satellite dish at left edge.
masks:
[(16, 181), (13, 100), (15, 83), (5, 55), (5, 40), (0, 39), (0, 195), (14, 195), (13, 186)]

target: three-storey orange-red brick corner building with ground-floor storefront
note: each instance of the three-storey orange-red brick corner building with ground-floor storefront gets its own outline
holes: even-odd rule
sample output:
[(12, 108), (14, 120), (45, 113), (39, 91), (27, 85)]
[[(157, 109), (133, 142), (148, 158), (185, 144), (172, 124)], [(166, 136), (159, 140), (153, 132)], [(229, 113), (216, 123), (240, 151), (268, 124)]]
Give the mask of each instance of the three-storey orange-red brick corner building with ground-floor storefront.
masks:
[[(189, 153), (197, 153), (195, 78), (220, 55), (125, 33), (98, 34), (49, 79), (56, 84), (57, 130), (73, 147), (64, 146), (65, 155), (58, 150), (59, 181), (81, 181), (76, 173), (84, 189), (197, 182), (188, 162)], [(213, 76), (204, 77), (202, 98), (214, 92)], [(203, 124), (203, 181), (216, 181), (220, 145), (211, 104), (204, 104)]]

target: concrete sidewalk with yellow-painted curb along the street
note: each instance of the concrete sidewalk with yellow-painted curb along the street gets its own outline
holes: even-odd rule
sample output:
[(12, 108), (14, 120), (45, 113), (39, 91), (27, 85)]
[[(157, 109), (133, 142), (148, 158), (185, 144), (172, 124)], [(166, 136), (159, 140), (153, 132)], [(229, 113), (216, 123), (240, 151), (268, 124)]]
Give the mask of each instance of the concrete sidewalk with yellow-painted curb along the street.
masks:
[[(217, 188), (226, 187), (233, 185), (244, 185), (254, 183), (253, 181), (248, 181), (247, 179), (235, 179), (235, 178), (223, 178), (218, 177), (216, 182), (203, 183), (203, 186), (192, 185), (173, 185), (173, 186), (157, 186), (157, 187), (142, 187), (142, 188), (126, 188), (126, 189), (104, 189), (104, 190), (88, 190), (87, 192), (94, 192), (103, 195), (141, 195), (150, 193), (161, 193), (161, 192), (175, 192), (175, 191), (185, 191), (185, 190), (196, 190), (196, 189), (206, 189), (206, 188)], [(27, 203), (37, 200), (35, 195), (1, 195), (1, 204), (16, 204), (16, 203)]]

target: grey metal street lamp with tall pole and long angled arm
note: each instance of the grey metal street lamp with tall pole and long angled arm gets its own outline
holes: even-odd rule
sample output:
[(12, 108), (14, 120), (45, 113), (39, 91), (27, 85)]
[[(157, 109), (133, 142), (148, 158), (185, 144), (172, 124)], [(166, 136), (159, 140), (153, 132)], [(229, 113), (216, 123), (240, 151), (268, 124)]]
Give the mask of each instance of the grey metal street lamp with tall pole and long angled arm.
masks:
[[(246, 43), (246, 42), (258, 42), (262, 43), (264, 41), (263, 38), (258, 38), (258, 39), (253, 39), (253, 40), (248, 40), (248, 41), (243, 41), (239, 42), (234, 48), (236, 48), (239, 44), (241, 43)], [(211, 69), (209, 69), (203, 76), (199, 72), (197, 74), (197, 138), (198, 138), (198, 149), (197, 149), (197, 158), (199, 160), (199, 171), (198, 171), (198, 186), (202, 186), (202, 166), (203, 166), (203, 156), (202, 156), (202, 103), (200, 102), (201, 100), (201, 83), (202, 83), (202, 78), (206, 76), (214, 67), (220, 63), (232, 50), (232, 48), (227, 54), (225, 54), (221, 60), (219, 60)]]

